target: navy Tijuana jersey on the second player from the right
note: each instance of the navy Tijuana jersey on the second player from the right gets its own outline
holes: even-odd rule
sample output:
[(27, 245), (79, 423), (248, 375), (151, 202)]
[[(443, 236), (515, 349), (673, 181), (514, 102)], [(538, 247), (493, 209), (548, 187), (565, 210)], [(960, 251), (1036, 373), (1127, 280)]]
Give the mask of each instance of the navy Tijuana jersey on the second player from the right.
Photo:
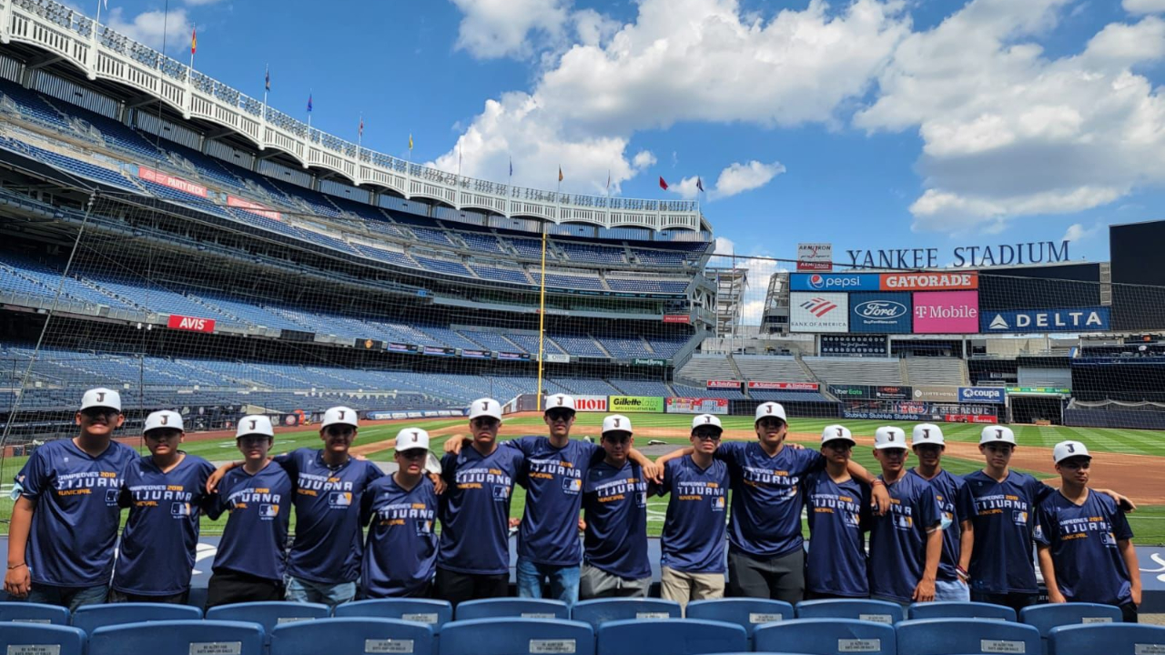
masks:
[(1036, 507), (1052, 487), (1010, 471), (996, 483), (982, 471), (963, 481), (975, 498), (975, 548), (970, 552), (970, 589), (980, 593), (1036, 593), (1032, 533)]

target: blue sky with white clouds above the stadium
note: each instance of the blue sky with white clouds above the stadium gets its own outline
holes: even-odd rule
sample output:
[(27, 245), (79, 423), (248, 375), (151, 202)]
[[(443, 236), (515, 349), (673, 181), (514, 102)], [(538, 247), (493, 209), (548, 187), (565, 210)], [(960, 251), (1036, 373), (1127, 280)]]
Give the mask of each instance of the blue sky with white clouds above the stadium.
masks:
[[(96, 12), (99, 0), (73, 5)], [(1165, 0), (110, 0), (103, 22), (466, 175), (699, 197), (722, 247), (1072, 238), (1160, 218)], [(669, 191), (658, 186), (663, 176)], [(696, 195), (699, 176), (707, 193)]]

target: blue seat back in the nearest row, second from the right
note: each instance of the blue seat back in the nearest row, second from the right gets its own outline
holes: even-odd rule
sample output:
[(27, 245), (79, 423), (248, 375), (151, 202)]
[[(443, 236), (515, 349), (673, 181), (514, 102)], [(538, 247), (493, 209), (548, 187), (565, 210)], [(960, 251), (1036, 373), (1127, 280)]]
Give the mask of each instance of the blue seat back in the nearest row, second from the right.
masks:
[(984, 619), (902, 621), (898, 655), (967, 655), (970, 653), (1039, 653), (1039, 631), (1023, 624)]

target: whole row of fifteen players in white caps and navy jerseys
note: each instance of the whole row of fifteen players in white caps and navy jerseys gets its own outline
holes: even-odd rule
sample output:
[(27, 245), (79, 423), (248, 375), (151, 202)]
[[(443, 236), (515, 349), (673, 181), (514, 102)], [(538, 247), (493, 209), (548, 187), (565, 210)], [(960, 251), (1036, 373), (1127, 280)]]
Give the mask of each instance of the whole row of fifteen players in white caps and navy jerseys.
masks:
[[(1136, 621), (1141, 580), (1118, 503), (1127, 501), (1089, 490), (1092, 459), (1079, 442), (1053, 451), (1057, 490), (1009, 469), (1016, 439), (1000, 425), (982, 430), (984, 469), (959, 477), (941, 466), (937, 425), (916, 425), (909, 441), (901, 428), (878, 428), (881, 473), (871, 474), (850, 459), (856, 442), (843, 425), (825, 428), (819, 452), (786, 444), (788, 418), (774, 402), (756, 409), (756, 441), (722, 442), (719, 418), (705, 414), (692, 421), (692, 445), (657, 462), (634, 449), (627, 416), (607, 416), (599, 444), (572, 439), (574, 401), (564, 394), (546, 399), (549, 436), (500, 443), (492, 399), (474, 401), (468, 418), (471, 435), (449, 439), (439, 466), (429, 463), (428, 432), (401, 430), (397, 471), (384, 476), (350, 455), (359, 428), (350, 408), (324, 414), (323, 449), (274, 458), (270, 421), (246, 416), (236, 430), (243, 460), (216, 471), (178, 449), (174, 411), (147, 417), (149, 456), (111, 441), (123, 422), (120, 397), (91, 389), (80, 434), (40, 446), (16, 478), (5, 590), (72, 608), (184, 603), (199, 515), (228, 513), (207, 606), (506, 596), (514, 523), (518, 596), (645, 597), (648, 498), (666, 494), (661, 596), (682, 605), (727, 592), (1019, 608), (1037, 598), (1035, 544), (1051, 601), (1111, 604)], [(908, 470), (911, 450), (918, 465)], [(509, 517), (515, 485), (527, 493), (521, 520)]]

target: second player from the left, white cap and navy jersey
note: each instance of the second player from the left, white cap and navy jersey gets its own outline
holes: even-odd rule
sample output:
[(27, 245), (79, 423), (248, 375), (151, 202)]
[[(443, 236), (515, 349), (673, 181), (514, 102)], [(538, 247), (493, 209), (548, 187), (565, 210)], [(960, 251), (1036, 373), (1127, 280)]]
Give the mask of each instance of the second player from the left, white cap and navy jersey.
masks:
[(185, 432), (177, 411), (150, 414), (143, 434), (150, 455), (129, 464), (119, 499), (129, 508), (129, 520), (118, 548), (110, 603), (184, 604), (199, 515), (212, 498), (206, 479), (214, 466), (178, 450)]

